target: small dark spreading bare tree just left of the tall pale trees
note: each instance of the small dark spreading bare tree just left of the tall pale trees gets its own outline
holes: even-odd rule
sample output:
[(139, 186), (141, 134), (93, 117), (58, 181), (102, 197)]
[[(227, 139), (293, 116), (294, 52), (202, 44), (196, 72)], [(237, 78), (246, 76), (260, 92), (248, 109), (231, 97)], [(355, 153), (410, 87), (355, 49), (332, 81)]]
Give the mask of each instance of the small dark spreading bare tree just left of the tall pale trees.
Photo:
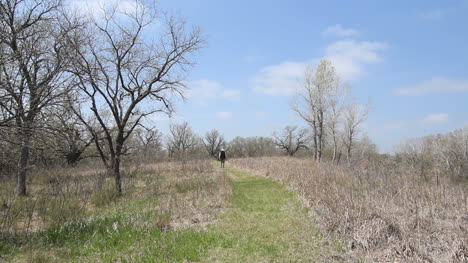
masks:
[(286, 126), (281, 134), (274, 133), (273, 137), (276, 145), (286, 150), (289, 156), (294, 156), (301, 148), (306, 149), (309, 139), (307, 130), (298, 130), (297, 126)]

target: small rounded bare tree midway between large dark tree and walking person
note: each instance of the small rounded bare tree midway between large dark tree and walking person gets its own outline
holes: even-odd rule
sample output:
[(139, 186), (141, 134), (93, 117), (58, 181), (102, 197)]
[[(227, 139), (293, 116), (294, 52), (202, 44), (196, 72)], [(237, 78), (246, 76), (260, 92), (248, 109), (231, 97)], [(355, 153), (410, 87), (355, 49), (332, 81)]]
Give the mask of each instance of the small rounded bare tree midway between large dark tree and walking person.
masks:
[(187, 122), (172, 124), (169, 127), (170, 137), (168, 139), (168, 149), (172, 153), (186, 157), (186, 153), (200, 144), (200, 139), (192, 131)]

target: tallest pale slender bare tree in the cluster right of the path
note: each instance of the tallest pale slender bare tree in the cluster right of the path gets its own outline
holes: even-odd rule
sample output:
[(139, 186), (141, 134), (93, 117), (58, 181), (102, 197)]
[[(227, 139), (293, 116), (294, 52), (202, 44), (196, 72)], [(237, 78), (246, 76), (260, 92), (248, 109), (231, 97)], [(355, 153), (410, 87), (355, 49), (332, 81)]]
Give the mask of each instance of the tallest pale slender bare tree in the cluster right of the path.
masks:
[(304, 74), (303, 91), (292, 109), (312, 128), (314, 159), (321, 161), (325, 141), (325, 118), (330, 108), (330, 94), (339, 87), (335, 68), (328, 60), (320, 61), (315, 71), (308, 67)]

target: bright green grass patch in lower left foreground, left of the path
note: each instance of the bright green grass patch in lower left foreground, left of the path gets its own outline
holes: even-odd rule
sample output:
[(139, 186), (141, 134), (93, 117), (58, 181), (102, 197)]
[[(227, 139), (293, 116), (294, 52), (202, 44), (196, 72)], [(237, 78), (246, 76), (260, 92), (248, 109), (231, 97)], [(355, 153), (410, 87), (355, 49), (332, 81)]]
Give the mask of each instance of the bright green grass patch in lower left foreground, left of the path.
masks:
[(162, 231), (160, 217), (165, 215), (153, 211), (77, 221), (51, 227), (37, 233), (29, 245), (2, 252), (19, 252), (12, 259), (16, 262), (32, 262), (32, 254), (41, 262), (57, 257), (60, 262), (199, 262), (209, 248), (223, 244), (215, 231)]

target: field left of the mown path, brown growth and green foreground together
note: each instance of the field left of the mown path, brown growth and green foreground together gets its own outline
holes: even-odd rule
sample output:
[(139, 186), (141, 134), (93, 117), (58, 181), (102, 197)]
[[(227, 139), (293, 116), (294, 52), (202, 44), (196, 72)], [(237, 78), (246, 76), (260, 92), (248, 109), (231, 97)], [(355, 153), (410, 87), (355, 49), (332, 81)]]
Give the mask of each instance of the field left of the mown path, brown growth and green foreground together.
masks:
[(25, 198), (2, 184), (1, 259), (199, 261), (217, 243), (219, 235), (206, 226), (231, 193), (223, 171), (205, 161), (163, 163), (129, 169), (124, 178), (120, 197), (113, 192), (112, 178), (95, 171), (37, 175)]

